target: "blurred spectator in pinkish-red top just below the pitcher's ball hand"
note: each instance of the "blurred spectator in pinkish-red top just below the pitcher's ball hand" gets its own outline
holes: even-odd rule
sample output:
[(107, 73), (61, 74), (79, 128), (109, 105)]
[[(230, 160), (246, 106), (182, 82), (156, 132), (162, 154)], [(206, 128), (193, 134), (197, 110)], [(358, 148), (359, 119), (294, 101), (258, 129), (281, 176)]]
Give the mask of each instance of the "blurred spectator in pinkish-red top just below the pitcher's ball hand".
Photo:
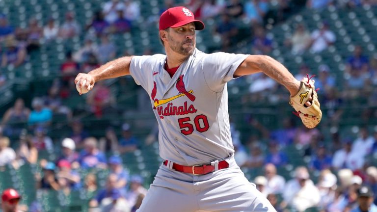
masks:
[(96, 117), (102, 117), (104, 113), (112, 110), (115, 104), (115, 98), (108, 86), (99, 81), (96, 86), (87, 95), (86, 103)]

